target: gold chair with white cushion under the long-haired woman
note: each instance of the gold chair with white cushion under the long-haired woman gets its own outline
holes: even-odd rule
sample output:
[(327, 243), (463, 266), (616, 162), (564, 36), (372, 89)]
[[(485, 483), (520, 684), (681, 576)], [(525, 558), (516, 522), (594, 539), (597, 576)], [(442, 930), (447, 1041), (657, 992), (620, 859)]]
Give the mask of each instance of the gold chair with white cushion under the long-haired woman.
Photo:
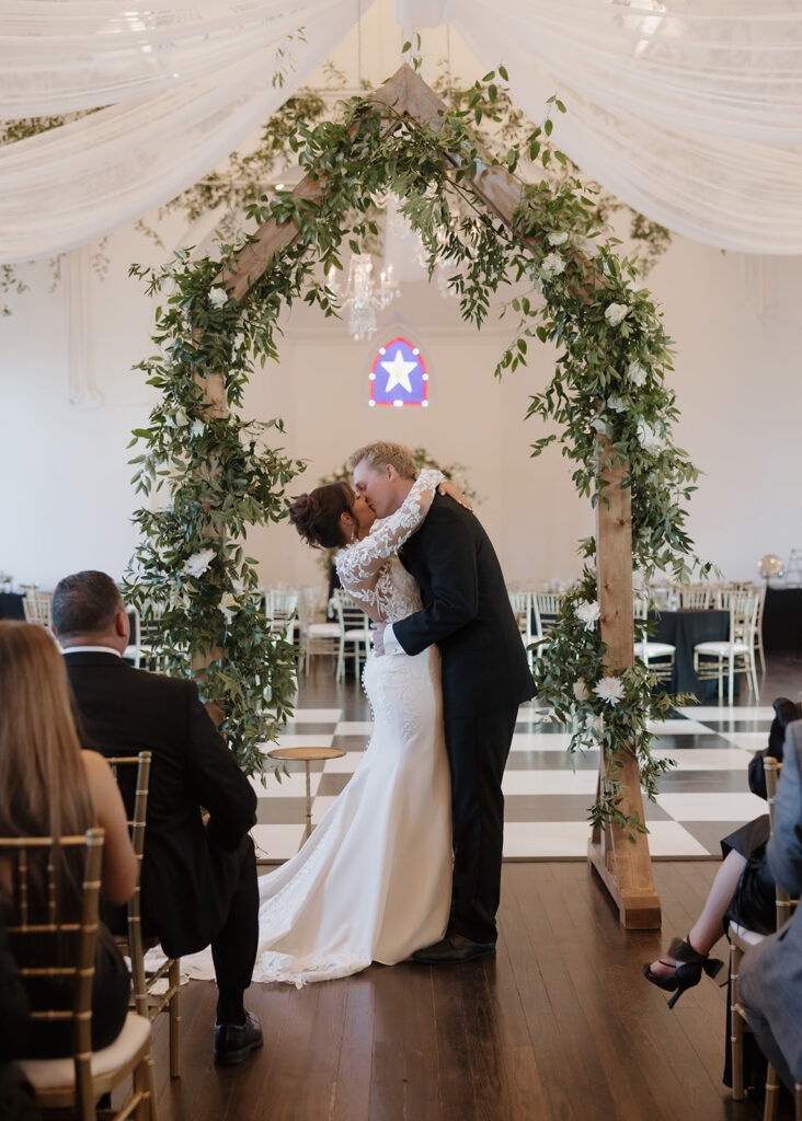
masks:
[[(83, 855), (77, 918), (65, 912), (58, 888), (58, 856), (68, 852)], [(9, 941), (20, 975), (31, 985), (38, 985), (39, 993), (42, 982), (48, 979), (55, 982), (53, 997), (43, 994), (42, 1001), (37, 1000), (37, 1004), (47, 1007), (37, 1007), (30, 1013), (31, 1019), (67, 1021), (73, 1032), (73, 1053), (68, 1058), (18, 1062), (42, 1110), (57, 1110), (62, 1115), (68, 1110), (80, 1121), (94, 1121), (99, 1099), (132, 1075), (131, 1095), (123, 1106), (111, 1111), (111, 1117), (116, 1121), (129, 1117), (136, 1121), (156, 1121), (149, 1063), (150, 1021), (129, 1012), (118, 1038), (102, 1050), (92, 1050), (92, 982), (102, 858), (103, 830), (99, 828), (89, 830), (85, 836), (0, 837), (0, 865), (11, 897)]]

